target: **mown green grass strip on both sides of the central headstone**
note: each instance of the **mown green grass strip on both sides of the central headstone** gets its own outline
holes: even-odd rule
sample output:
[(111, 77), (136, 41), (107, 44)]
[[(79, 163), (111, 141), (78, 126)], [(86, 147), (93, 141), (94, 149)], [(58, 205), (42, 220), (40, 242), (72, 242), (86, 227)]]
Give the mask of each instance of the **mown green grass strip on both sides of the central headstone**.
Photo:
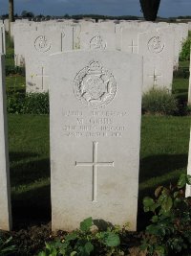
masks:
[[(142, 198), (186, 172), (189, 127), (189, 117), (142, 117), (140, 219)], [(50, 221), (49, 116), (9, 115), (9, 141), (14, 225)]]

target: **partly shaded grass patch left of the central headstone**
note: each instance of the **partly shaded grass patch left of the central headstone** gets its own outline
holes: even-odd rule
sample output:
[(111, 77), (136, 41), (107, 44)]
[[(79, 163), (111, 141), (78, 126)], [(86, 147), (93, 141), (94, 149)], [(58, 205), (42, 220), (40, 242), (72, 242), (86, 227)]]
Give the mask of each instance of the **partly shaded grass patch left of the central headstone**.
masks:
[(49, 116), (9, 115), (13, 223), (50, 220)]

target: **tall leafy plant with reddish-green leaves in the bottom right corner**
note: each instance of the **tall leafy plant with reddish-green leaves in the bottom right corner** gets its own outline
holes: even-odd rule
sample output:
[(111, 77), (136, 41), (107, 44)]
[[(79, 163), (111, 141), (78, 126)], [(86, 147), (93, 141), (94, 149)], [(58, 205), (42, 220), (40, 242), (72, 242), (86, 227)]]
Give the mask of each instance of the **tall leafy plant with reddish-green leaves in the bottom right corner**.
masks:
[(186, 184), (191, 185), (191, 175), (180, 175), (176, 186), (159, 186), (155, 198), (143, 199), (144, 212), (153, 213), (141, 244), (147, 255), (174, 255), (190, 250), (191, 198), (184, 196)]

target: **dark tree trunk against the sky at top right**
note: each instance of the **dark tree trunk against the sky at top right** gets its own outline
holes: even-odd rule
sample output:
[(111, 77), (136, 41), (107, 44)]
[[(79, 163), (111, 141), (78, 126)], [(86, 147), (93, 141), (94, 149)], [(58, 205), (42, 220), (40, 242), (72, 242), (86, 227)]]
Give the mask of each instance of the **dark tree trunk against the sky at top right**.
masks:
[(148, 21), (155, 21), (159, 11), (160, 0), (139, 0), (144, 18)]

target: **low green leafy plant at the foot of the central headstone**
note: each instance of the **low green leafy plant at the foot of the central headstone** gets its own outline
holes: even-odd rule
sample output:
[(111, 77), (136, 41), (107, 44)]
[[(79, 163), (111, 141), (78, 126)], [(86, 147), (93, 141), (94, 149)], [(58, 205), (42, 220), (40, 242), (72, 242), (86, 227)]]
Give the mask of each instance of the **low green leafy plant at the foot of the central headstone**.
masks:
[[(63, 240), (46, 243), (44, 251), (38, 256), (89, 256), (96, 253), (97, 247), (105, 251), (104, 255), (123, 255), (119, 250), (120, 239), (117, 228), (98, 231), (92, 218), (80, 223), (80, 228), (66, 235)], [(98, 254), (94, 254), (98, 255)]]

